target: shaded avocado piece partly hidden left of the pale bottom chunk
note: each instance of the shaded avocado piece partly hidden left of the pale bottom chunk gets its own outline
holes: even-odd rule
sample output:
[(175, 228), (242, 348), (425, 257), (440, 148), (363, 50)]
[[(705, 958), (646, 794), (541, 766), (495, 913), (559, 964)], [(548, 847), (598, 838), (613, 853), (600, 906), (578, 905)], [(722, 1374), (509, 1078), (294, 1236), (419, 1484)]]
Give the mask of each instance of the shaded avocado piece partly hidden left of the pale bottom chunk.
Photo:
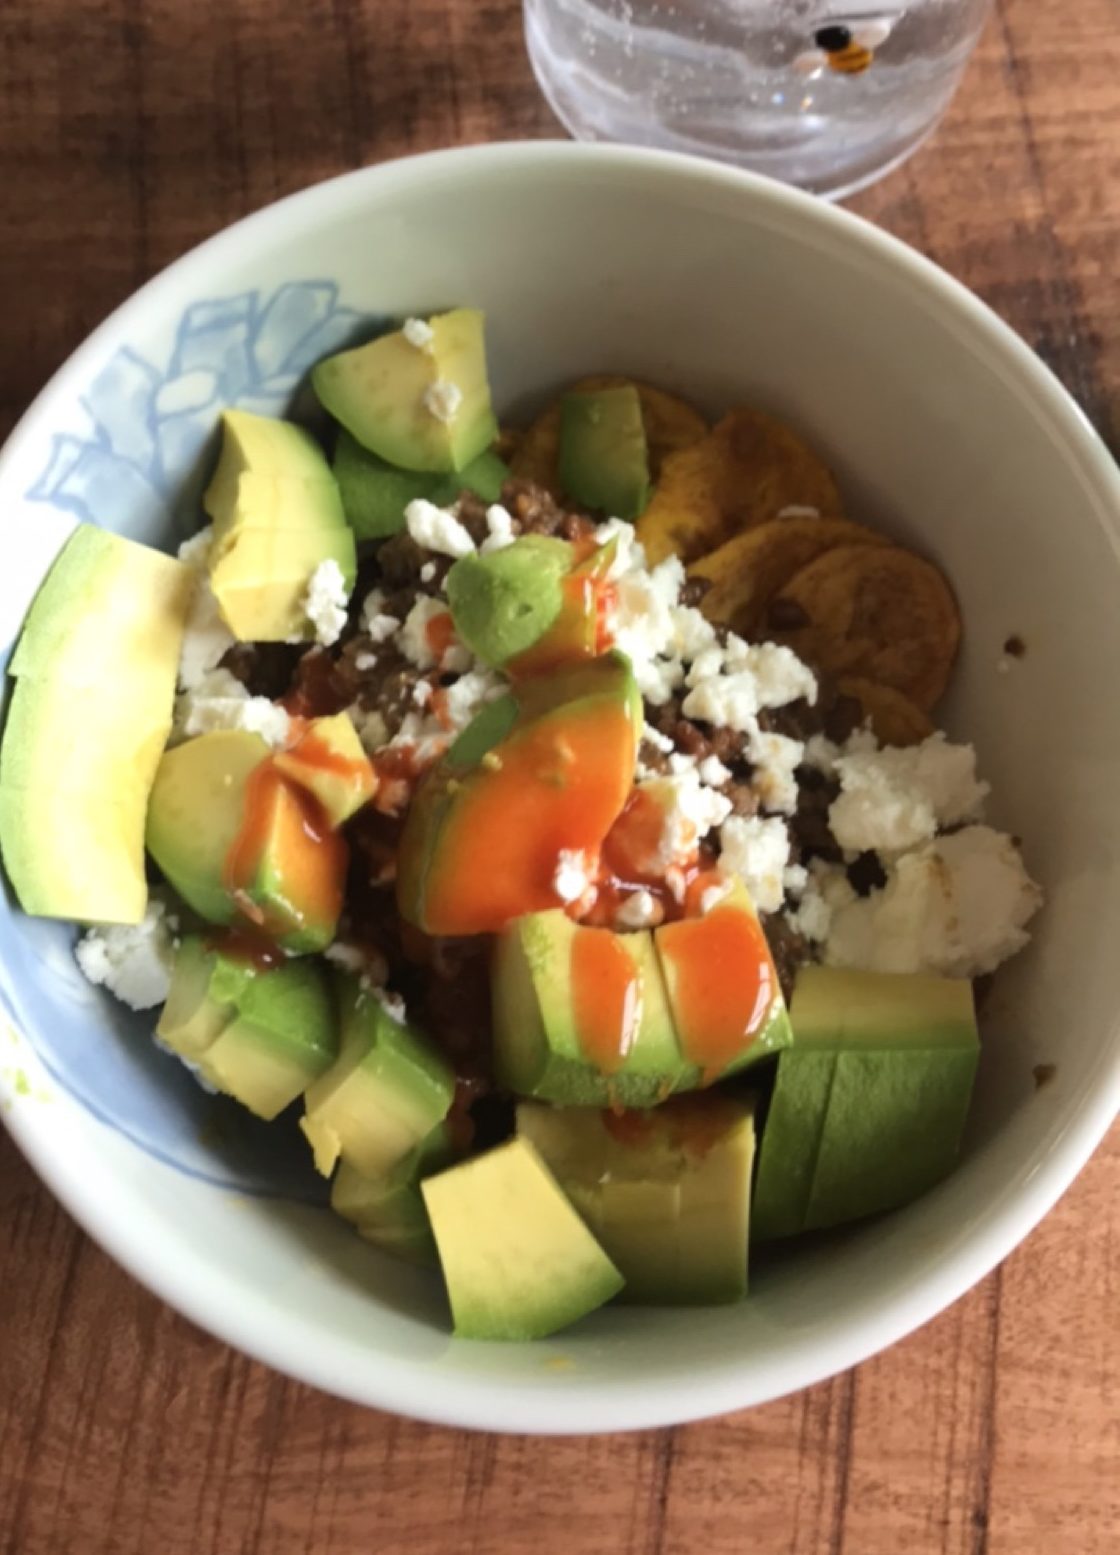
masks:
[(439, 1263), (420, 1183), (456, 1157), (445, 1123), (378, 1177), (362, 1177), (341, 1162), (331, 1182), (331, 1210), (350, 1221), (366, 1241), (411, 1263)]

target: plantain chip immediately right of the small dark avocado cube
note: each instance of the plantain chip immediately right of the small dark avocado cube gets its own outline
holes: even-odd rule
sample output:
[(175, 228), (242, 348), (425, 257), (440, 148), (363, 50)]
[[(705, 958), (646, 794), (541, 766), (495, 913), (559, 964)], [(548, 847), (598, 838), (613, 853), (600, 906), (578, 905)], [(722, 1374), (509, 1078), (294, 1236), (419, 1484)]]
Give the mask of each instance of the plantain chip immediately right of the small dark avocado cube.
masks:
[(828, 466), (784, 421), (761, 411), (731, 411), (702, 442), (664, 460), (653, 498), (638, 519), (650, 563), (689, 563), (725, 541), (778, 519), (838, 516), (840, 493)]

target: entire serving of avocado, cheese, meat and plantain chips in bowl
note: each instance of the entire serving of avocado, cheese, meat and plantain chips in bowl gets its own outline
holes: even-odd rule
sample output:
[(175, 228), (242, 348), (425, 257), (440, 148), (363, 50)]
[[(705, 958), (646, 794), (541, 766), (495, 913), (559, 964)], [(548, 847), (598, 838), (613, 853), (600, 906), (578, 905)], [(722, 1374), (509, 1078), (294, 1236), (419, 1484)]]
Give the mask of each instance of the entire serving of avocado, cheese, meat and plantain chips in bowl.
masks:
[(736, 1300), (750, 1238), (940, 1180), (1041, 899), (930, 722), (941, 572), (754, 411), (599, 376), (499, 432), (473, 309), (313, 381), (330, 463), (226, 412), (179, 558), (82, 527), (51, 569), (25, 910), (101, 925), (82, 970), (204, 1084), (300, 1104), (467, 1337)]

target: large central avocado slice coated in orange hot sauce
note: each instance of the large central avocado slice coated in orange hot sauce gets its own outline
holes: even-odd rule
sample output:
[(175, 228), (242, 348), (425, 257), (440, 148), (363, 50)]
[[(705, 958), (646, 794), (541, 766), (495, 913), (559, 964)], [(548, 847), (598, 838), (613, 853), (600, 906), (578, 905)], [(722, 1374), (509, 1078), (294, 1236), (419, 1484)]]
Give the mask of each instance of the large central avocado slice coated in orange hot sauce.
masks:
[(618, 653), (518, 683), (484, 708), (409, 809), (401, 916), (429, 935), (476, 935), (557, 907), (560, 854), (596, 852), (625, 804), (641, 718)]

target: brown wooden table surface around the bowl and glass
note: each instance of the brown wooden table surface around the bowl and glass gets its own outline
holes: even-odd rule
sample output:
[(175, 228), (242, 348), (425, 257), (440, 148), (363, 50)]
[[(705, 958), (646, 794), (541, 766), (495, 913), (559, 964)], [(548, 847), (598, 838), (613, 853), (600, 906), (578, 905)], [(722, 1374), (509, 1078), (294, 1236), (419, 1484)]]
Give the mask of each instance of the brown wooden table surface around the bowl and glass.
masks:
[[(1120, 0), (1003, 0), (936, 138), (854, 204), (1120, 415)], [(3, 0), (0, 434), (249, 210), (557, 132), (515, 0)], [(208, 1339), (0, 1137), (3, 1555), (1115, 1555), (1120, 1135), (924, 1331), (790, 1400), (614, 1438), (431, 1429)]]

